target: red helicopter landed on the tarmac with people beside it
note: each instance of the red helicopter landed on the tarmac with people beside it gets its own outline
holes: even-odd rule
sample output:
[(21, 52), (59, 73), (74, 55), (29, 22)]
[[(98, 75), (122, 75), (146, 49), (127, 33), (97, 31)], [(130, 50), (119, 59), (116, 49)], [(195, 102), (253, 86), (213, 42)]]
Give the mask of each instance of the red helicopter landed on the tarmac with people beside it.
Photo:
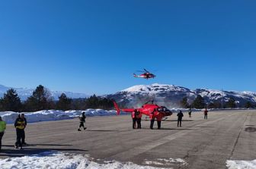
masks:
[[(150, 101), (149, 101), (150, 102)], [(145, 114), (146, 116), (150, 117), (150, 128), (153, 129), (154, 121), (157, 120), (158, 129), (161, 128), (161, 121), (163, 117), (171, 116), (172, 112), (168, 110), (168, 108), (165, 108), (165, 106), (159, 106), (152, 103), (149, 104), (149, 102), (146, 102), (144, 105), (142, 105), (141, 108), (124, 108), (120, 109), (116, 102), (114, 102), (114, 107), (117, 110), (117, 115), (120, 114), (120, 111), (125, 111), (127, 113), (132, 113), (133, 111), (139, 111), (142, 114)]]

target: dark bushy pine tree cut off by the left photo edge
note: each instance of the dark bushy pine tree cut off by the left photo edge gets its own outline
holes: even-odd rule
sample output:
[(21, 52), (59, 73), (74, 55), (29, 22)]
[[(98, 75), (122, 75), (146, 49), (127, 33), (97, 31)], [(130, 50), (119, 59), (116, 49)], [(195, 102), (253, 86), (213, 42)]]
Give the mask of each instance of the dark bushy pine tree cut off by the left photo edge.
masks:
[(22, 104), (17, 92), (14, 89), (8, 89), (4, 97), (0, 99), (2, 111), (21, 111)]

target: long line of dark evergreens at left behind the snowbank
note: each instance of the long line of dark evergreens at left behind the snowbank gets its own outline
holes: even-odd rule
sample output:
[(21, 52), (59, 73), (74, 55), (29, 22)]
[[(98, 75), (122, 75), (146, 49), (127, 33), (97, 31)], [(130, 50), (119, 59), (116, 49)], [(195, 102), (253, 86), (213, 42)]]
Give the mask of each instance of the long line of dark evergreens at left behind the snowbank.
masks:
[(26, 101), (21, 102), (18, 93), (14, 89), (8, 89), (0, 99), (0, 111), (40, 111), (40, 110), (85, 110), (87, 108), (113, 109), (114, 105), (110, 99), (100, 98), (92, 95), (85, 99), (70, 99), (65, 93), (54, 101), (50, 91), (39, 85)]

